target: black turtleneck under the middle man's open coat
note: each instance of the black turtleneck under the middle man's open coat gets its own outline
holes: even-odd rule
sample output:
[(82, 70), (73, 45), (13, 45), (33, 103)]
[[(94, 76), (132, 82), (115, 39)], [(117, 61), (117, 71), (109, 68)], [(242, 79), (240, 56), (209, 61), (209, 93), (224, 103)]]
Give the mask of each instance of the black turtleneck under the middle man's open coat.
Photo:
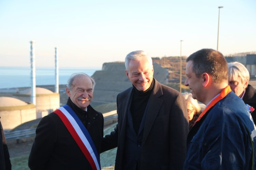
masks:
[[(133, 85), (132, 85), (133, 86)], [(150, 87), (145, 91), (139, 91), (135, 86), (133, 86), (133, 95), (131, 102), (131, 116), (133, 128), (136, 134), (140, 129), (141, 120), (143, 118), (148, 99), (150, 98), (151, 91), (154, 87), (154, 79), (150, 85)]]

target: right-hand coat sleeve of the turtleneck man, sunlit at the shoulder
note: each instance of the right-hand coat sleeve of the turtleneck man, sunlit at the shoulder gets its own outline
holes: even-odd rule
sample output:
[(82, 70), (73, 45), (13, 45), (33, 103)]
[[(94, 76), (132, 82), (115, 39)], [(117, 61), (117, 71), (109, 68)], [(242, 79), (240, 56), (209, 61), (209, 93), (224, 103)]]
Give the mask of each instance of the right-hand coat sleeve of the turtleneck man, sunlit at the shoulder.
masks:
[(181, 94), (174, 101), (170, 115), (170, 169), (182, 169), (189, 124), (186, 102)]

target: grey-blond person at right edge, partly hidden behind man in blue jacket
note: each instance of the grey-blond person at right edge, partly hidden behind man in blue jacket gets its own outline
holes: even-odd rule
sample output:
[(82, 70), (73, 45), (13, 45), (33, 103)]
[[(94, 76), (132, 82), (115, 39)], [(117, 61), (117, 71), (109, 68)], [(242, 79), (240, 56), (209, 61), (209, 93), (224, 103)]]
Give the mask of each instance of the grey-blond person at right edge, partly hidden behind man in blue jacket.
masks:
[(256, 89), (249, 83), (249, 71), (239, 62), (228, 63), (228, 85), (247, 104), (254, 124), (256, 123)]

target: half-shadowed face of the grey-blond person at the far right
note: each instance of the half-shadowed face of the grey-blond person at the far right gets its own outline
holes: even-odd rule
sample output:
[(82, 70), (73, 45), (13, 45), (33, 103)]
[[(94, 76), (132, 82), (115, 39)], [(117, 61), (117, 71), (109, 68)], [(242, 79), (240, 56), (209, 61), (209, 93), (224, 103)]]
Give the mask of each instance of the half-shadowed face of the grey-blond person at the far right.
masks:
[(236, 80), (228, 80), (228, 85), (231, 90), (241, 98), (243, 96), (244, 89), (247, 86), (247, 82), (242, 82), (241, 77), (237, 77)]

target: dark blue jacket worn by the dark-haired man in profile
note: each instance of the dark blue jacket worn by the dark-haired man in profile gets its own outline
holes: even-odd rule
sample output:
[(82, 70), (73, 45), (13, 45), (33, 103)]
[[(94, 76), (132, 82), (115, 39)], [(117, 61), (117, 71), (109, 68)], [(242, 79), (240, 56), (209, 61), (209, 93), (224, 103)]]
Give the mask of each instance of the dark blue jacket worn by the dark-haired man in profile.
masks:
[(252, 146), (255, 169), (255, 129), (242, 99), (228, 93), (190, 130), (184, 169), (252, 169)]

